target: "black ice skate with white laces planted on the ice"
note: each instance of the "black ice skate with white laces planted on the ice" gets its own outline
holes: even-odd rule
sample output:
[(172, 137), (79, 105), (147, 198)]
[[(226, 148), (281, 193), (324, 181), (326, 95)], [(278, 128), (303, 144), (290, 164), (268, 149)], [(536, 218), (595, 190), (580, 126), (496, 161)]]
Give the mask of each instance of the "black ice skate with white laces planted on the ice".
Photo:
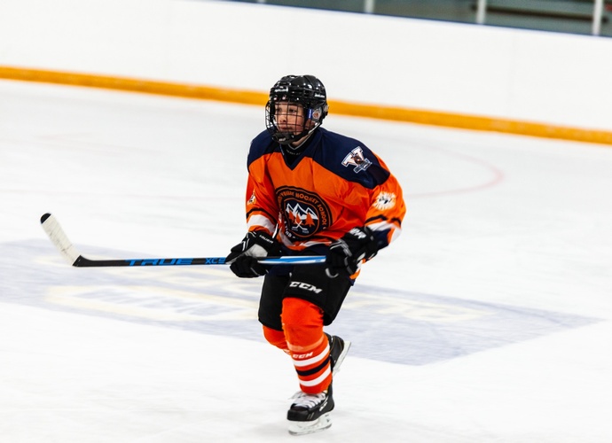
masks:
[(326, 391), (309, 394), (297, 392), (294, 403), (287, 411), (291, 435), (310, 434), (323, 431), (332, 425), (330, 412), (333, 410), (332, 385)]

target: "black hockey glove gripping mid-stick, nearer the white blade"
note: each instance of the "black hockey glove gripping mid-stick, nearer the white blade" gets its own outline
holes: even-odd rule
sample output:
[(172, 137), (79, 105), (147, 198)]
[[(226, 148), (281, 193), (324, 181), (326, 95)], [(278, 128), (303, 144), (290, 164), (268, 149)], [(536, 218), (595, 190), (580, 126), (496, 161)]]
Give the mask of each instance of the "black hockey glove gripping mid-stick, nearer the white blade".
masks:
[(230, 250), (225, 262), (230, 265), (231, 272), (241, 278), (264, 276), (268, 269), (257, 261), (268, 254), (279, 254), (280, 245), (265, 232), (251, 231)]

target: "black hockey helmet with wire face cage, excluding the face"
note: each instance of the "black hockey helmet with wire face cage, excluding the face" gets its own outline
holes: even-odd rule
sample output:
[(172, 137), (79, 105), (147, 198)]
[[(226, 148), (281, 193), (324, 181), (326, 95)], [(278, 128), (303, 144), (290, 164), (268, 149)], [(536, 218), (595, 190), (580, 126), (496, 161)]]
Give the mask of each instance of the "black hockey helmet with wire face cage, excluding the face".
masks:
[[(302, 128), (299, 133), (286, 133), (279, 130), (276, 124), (276, 104), (291, 102), (302, 105), (305, 123), (311, 121), (309, 128)], [(270, 89), (270, 99), (265, 107), (266, 128), (279, 144), (290, 144), (307, 136), (321, 125), (326, 118), (327, 110), (326, 87), (314, 75), (286, 75)]]

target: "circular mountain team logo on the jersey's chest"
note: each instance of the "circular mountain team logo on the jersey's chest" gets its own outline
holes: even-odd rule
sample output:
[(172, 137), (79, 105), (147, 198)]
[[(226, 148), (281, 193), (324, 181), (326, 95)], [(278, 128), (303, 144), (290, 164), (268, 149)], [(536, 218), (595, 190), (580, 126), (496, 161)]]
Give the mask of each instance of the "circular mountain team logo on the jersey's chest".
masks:
[(314, 192), (283, 186), (276, 191), (276, 196), (286, 237), (308, 238), (332, 222), (329, 206)]

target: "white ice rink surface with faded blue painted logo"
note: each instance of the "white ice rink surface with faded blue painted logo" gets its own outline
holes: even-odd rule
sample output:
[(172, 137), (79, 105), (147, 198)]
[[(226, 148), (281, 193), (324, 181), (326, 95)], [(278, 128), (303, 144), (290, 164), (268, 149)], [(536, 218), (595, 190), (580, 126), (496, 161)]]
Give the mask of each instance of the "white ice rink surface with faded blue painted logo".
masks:
[(408, 214), (333, 324), (354, 351), (332, 428), (295, 438), (260, 282), (69, 268), (39, 225), (52, 212), (93, 258), (224, 256), (263, 110), (20, 82), (0, 97), (3, 443), (612, 441), (612, 149), (332, 109), (326, 128), (381, 154)]

